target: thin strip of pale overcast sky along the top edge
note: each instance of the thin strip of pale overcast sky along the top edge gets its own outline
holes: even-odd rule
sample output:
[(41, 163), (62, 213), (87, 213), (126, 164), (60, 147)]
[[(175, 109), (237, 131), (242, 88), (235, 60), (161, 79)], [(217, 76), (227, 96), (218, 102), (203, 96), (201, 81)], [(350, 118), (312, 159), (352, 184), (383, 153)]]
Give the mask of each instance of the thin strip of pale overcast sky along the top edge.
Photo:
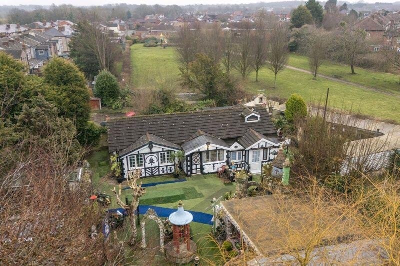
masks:
[[(263, 2), (276, 2), (279, 0), (264, 0)], [(346, 2), (357, 2), (358, 0), (345, 0)], [(377, 2), (379, 0), (362, 0), (363, 2)], [(396, 0), (382, 0), (382, 2), (394, 2)], [(39, 0), (39, 1), (32, 1), (32, 0), (0, 0), (0, 4), (5, 5), (17, 5), (17, 4), (40, 4), (40, 5), (50, 5), (54, 4), (73, 4), (73, 5), (102, 5), (106, 3), (145, 3), (145, 4), (195, 4), (195, 3), (202, 3), (202, 4), (217, 4), (217, 3), (228, 3), (228, 4), (235, 4), (235, 3), (253, 3), (259, 2), (258, 0), (134, 0), (134, 1), (124, 1), (124, 0)]]

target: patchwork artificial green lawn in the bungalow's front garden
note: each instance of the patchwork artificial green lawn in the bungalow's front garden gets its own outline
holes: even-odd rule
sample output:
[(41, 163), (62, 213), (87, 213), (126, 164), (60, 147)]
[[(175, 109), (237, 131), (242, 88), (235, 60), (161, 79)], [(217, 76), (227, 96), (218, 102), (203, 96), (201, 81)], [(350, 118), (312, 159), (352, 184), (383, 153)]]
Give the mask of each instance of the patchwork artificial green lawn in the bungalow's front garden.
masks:
[[(100, 188), (101, 192), (110, 195), (112, 198), (111, 206), (109, 206), (109, 208), (118, 208), (119, 206), (116, 204), (115, 196), (110, 191), (113, 187), (117, 188), (118, 185), (115, 181), (104, 178), (106, 173), (109, 171), (109, 154), (107, 148), (101, 147), (95, 149), (89, 155), (87, 160), (90, 163), (90, 170), (93, 172), (92, 182), (94, 190)], [(182, 177), (183, 176), (181, 176), (181, 178)], [(160, 176), (142, 178), (140, 179), (140, 182), (147, 184), (170, 180), (176, 179), (172, 176)], [(126, 182), (123, 182), (122, 188), (126, 186)], [(225, 192), (234, 191), (234, 189), (234, 184), (222, 183), (215, 174), (195, 175), (188, 177), (185, 182), (147, 187), (146, 194), (140, 198), (140, 204), (176, 208), (176, 202), (178, 200), (183, 200), (184, 208), (186, 210), (212, 214), (212, 210), (205, 211), (205, 209), (211, 204), (210, 201), (212, 198), (223, 196)], [(129, 190), (122, 190), (121, 198), (124, 199), (125, 197), (129, 200), (131, 199)], [(140, 218), (142, 218), (142, 216), (140, 216)], [(193, 240), (197, 244), (197, 254), (201, 258), (203, 265), (208, 265), (209, 260), (213, 261), (215, 259), (214, 255), (217, 252), (215, 244), (211, 242), (209, 238), (211, 226), (195, 222), (192, 222), (190, 225), (193, 232)], [(139, 229), (139, 226), (137, 226), (137, 228)], [(158, 228), (155, 223), (152, 221), (146, 223), (146, 231), (155, 232), (147, 235), (148, 247), (156, 246), (158, 243)], [(140, 230), (138, 230), (138, 239), (140, 239), (140, 235)], [(160, 254), (156, 256), (155, 260), (160, 265), (168, 265)]]

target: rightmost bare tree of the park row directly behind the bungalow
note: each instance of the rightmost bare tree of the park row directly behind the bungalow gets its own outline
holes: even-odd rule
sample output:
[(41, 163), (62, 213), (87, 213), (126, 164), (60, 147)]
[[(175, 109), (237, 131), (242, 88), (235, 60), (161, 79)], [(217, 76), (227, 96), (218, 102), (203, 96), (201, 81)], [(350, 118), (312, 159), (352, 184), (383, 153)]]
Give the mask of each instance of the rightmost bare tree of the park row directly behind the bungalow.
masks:
[(276, 87), (276, 75), (284, 69), (287, 59), (289, 58), (287, 35), (287, 28), (282, 23), (275, 23), (272, 26), (268, 40), (269, 49), (266, 60), (269, 63), (268, 68), (274, 74), (273, 88)]

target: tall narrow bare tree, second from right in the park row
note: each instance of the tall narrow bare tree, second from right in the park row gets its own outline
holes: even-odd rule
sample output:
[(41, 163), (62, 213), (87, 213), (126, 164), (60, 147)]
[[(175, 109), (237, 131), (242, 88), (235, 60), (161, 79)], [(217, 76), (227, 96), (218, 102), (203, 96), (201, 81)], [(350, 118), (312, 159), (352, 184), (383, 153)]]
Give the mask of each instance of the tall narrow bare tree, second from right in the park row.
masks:
[(267, 47), (266, 11), (261, 9), (255, 15), (255, 32), (252, 34), (252, 61), (255, 70), (255, 81), (258, 81), (258, 71), (265, 64)]

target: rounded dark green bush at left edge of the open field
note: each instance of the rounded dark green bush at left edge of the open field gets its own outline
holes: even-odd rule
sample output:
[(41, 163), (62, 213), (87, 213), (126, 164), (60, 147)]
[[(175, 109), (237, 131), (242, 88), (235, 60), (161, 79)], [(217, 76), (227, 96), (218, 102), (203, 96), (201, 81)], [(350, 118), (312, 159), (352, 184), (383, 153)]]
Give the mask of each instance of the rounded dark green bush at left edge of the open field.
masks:
[(105, 106), (112, 106), (120, 96), (118, 81), (110, 72), (102, 70), (97, 75), (93, 92)]

